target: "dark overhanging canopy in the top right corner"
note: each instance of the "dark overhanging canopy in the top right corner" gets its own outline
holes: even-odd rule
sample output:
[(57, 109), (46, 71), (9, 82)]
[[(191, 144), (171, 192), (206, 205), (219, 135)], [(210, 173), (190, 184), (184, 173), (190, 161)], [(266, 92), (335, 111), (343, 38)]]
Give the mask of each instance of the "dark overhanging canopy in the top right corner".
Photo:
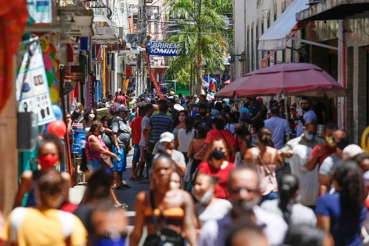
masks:
[(369, 10), (368, 0), (324, 0), (310, 4), (310, 7), (296, 12), (296, 20), (344, 20), (365, 18)]

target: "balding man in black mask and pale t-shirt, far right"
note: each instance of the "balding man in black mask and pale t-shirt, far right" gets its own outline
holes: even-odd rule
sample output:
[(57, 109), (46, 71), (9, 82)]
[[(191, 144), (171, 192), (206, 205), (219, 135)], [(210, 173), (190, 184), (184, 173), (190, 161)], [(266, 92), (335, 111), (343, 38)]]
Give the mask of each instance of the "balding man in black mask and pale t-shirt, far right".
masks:
[(333, 133), (333, 141), (336, 144), (336, 153), (331, 154), (324, 159), (319, 169), (319, 194), (323, 195), (328, 191), (334, 192), (334, 187), (331, 185), (331, 172), (339, 161), (342, 160), (342, 151), (350, 144), (347, 132), (344, 130), (336, 130)]

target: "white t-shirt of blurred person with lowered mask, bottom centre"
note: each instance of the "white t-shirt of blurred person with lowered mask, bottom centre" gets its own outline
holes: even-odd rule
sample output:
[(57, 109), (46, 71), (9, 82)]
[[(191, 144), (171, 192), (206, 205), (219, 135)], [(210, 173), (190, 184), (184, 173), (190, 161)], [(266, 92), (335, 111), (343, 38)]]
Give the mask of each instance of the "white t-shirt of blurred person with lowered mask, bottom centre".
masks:
[(199, 227), (208, 220), (221, 219), (232, 209), (232, 204), (226, 199), (217, 199), (209, 206), (203, 206), (199, 202), (195, 204), (196, 217), (199, 220)]

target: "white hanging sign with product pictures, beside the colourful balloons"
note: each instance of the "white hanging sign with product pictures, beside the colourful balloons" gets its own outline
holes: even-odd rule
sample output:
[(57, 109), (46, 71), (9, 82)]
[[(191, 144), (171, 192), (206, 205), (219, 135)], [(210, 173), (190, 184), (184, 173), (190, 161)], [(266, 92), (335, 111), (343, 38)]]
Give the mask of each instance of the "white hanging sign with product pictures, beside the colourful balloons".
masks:
[(22, 45), (18, 55), (22, 61), (16, 82), (18, 112), (35, 113), (39, 126), (56, 120), (39, 42)]

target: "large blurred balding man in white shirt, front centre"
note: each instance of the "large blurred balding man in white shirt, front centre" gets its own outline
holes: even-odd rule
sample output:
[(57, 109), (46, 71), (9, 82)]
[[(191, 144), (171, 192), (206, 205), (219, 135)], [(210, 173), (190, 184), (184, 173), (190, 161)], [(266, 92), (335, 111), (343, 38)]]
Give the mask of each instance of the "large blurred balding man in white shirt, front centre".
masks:
[(232, 211), (218, 221), (207, 221), (201, 227), (199, 246), (223, 246), (227, 228), (239, 221), (252, 222), (263, 227), (270, 246), (282, 245), (288, 226), (283, 218), (261, 209), (260, 177), (258, 171), (248, 165), (234, 168), (228, 181)]

